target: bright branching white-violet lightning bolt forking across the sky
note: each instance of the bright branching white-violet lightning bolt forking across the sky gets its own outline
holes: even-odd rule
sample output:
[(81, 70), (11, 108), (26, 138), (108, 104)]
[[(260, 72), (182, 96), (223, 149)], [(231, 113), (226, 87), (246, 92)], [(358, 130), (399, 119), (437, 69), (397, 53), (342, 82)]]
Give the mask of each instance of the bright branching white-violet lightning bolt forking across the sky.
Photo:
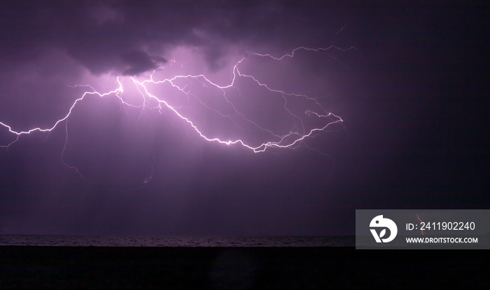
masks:
[[(341, 29), (342, 30), (342, 29)], [(338, 32), (337, 32), (338, 33)], [(280, 61), (283, 60), (284, 57), (294, 57), (295, 52), (297, 50), (307, 50), (307, 51), (313, 51), (313, 52), (319, 52), (319, 51), (328, 51), (331, 49), (338, 49), (342, 51), (346, 51), (352, 48), (348, 49), (341, 49), (336, 46), (329, 46), (328, 48), (305, 48), (305, 47), (299, 47), (295, 48), (291, 53), (283, 55), (281, 57), (274, 57), (269, 54), (259, 54), (259, 53), (253, 53), (256, 57), (272, 57), (272, 59)], [(279, 90), (277, 88), (272, 88), (271, 86), (267, 85), (266, 83), (262, 83), (258, 78), (255, 78), (254, 76), (250, 74), (244, 74), (241, 73), (239, 70), (240, 64), (244, 62), (246, 57), (241, 58), (235, 65), (232, 67), (231, 71), (231, 81), (227, 85), (218, 85), (217, 83), (214, 83), (211, 81), (207, 76), (204, 74), (188, 74), (188, 75), (178, 75), (174, 76), (172, 78), (164, 78), (161, 80), (155, 79), (155, 71), (153, 71), (153, 74), (149, 76), (147, 79), (144, 81), (139, 81), (137, 78), (134, 78), (130, 76), (130, 79), (132, 81), (132, 84), (137, 88), (139, 95), (141, 96), (141, 104), (132, 104), (131, 102), (127, 102), (123, 98), (123, 83), (121, 82), (120, 76), (116, 77), (116, 81), (118, 83), (118, 87), (109, 91), (109, 92), (98, 92), (95, 90), (91, 85), (76, 85), (74, 87), (78, 88), (87, 88), (85, 92), (83, 92), (83, 95), (81, 95), (78, 99), (76, 99), (71, 107), (69, 108), (68, 112), (66, 115), (64, 115), (62, 118), (57, 120), (51, 127), (47, 128), (41, 128), (41, 127), (35, 127), (30, 130), (26, 131), (19, 131), (19, 130), (14, 130), (12, 126), (3, 123), (0, 121), (0, 128), (6, 128), (9, 134), (13, 135), (13, 140), (8, 142), (7, 144), (0, 144), (0, 148), (8, 150), (10, 146), (13, 146), (16, 142), (20, 140), (20, 137), (24, 135), (31, 134), (33, 132), (45, 132), (49, 135), (49, 133), (52, 130), (55, 130), (55, 128), (59, 126), (64, 126), (64, 131), (65, 131), (65, 139), (64, 139), (64, 146), (62, 149), (61, 153), (61, 159), (62, 163), (66, 166), (69, 167), (71, 170), (75, 170), (82, 179), (85, 179), (83, 175), (81, 174), (80, 170), (74, 165), (69, 165), (68, 163), (65, 162), (65, 153), (66, 153), (66, 148), (69, 144), (69, 117), (71, 116), (71, 113), (73, 109), (76, 108), (80, 102), (83, 102), (83, 99), (89, 95), (94, 95), (98, 97), (109, 97), (109, 96), (114, 96), (118, 98), (120, 104), (123, 106), (127, 107), (132, 107), (134, 109), (141, 109), (141, 114), (140, 117), (143, 115), (145, 110), (158, 110), (160, 113), (163, 113), (164, 111), (170, 111), (174, 113), (174, 116), (179, 118), (181, 121), (186, 123), (190, 129), (192, 129), (197, 135), (209, 142), (216, 142), (218, 144), (223, 144), (223, 145), (237, 145), (237, 146), (243, 146), (244, 148), (252, 151), (253, 153), (262, 153), (267, 151), (268, 149), (272, 148), (277, 148), (277, 149), (295, 149), (298, 146), (304, 145), (307, 146), (307, 144), (304, 143), (306, 139), (312, 138), (316, 136), (319, 132), (324, 132), (328, 131), (330, 127), (334, 124), (339, 124), (342, 126), (342, 118), (339, 116), (335, 115), (334, 113), (328, 113), (323, 106), (313, 97), (308, 97), (307, 95), (302, 95), (302, 94), (297, 94), (295, 92), (286, 92), (283, 90)], [(177, 63), (175, 61), (171, 61), (173, 63)], [(182, 64), (179, 64), (182, 67)], [(165, 67), (162, 67), (160, 69), (165, 69)], [(293, 129), (290, 130), (290, 132), (286, 134), (280, 134), (278, 132), (274, 132), (272, 129), (268, 129), (265, 127), (262, 127), (258, 125), (257, 122), (252, 120), (251, 118), (247, 118), (246, 114), (241, 113), (237, 109), (237, 106), (233, 104), (233, 102), (230, 101), (227, 92), (230, 92), (231, 90), (236, 90), (239, 95), (241, 95), (241, 90), (239, 89), (239, 85), (237, 85), (237, 80), (241, 78), (244, 80), (248, 80), (251, 83), (255, 84), (258, 88), (262, 88), (263, 90), (267, 90), (269, 94), (273, 95), (278, 95), (283, 99), (283, 109), (290, 115), (290, 117), (295, 120), (295, 124), (293, 126)], [(225, 104), (227, 104), (228, 109), (232, 109), (233, 116), (230, 113), (223, 113), (219, 111), (218, 109), (214, 108), (213, 106), (209, 106), (206, 102), (202, 101), (200, 97), (198, 97), (194, 92), (192, 92), (189, 88), (189, 82), (190, 81), (197, 81), (200, 83), (204, 88), (215, 88), (218, 90), (221, 90), (223, 97), (223, 100)], [(183, 96), (185, 96), (188, 100), (193, 99), (197, 102), (200, 103), (201, 106), (206, 108), (209, 111), (213, 111), (214, 113), (218, 114), (219, 116), (223, 118), (228, 118), (229, 120), (232, 121), (232, 123), (235, 123), (235, 125), (238, 125), (237, 120), (240, 119), (241, 122), (244, 122), (252, 127), (255, 127), (256, 130), (260, 130), (261, 132), (268, 134), (269, 140), (264, 141), (260, 144), (252, 144), (249, 141), (246, 141), (244, 139), (226, 139), (226, 138), (218, 138), (218, 137), (213, 137), (209, 134), (206, 134), (203, 132), (202, 128), (196, 123), (195, 120), (191, 116), (186, 115), (183, 111), (182, 106), (176, 106), (172, 105), (171, 102), (169, 102), (168, 99), (166, 99), (165, 95), (158, 95), (153, 92), (151, 92), (151, 89), (149, 88), (149, 85), (169, 85), (170, 87), (178, 90)], [(242, 96), (243, 97), (243, 96)], [(297, 113), (293, 113), (293, 111), (290, 110), (288, 106), (288, 102), (290, 102), (290, 99), (292, 98), (297, 98), (297, 99), (304, 99), (307, 102), (312, 102), (316, 106), (316, 110), (313, 109), (308, 109), (304, 111), (304, 116), (300, 116)], [(304, 118), (305, 116), (307, 118), (314, 118), (315, 120), (321, 120), (323, 125), (319, 125), (316, 127), (312, 128), (307, 128), (304, 126)], [(307, 146), (308, 147), (308, 146)], [(308, 147), (309, 148), (309, 147)], [(152, 172), (151, 174), (144, 179), (144, 184), (147, 184), (151, 179), (153, 178), (153, 167), (155, 163), (155, 153), (153, 153), (153, 165), (152, 165)]]

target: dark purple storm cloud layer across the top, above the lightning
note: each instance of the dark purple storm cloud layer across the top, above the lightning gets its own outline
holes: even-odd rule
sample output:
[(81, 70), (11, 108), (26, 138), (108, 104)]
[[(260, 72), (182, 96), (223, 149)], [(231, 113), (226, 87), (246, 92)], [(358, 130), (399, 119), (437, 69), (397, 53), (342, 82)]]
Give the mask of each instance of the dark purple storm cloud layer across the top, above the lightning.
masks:
[[(274, 49), (283, 44), (320, 45), (348, 21), (346, 13), (311, 13), (315, 8), (328, 11), (318, 3), (10, 1), (2, 5), (2, 62), (34, 60), (42, 56), (41, 50), (56, 47), (94, 74), (129, 74), (127, 57), (121, 55), (139, 51), (162, 56), (166, 48), (177, 45), (202, 47), (209, 65), (220, 67), (230, 44), (245, 49), (257, 45)], [(304, 29), (318, 36), (305, 37)], [(154, 67), (146, 63), (130, 71), (140, 73)]]

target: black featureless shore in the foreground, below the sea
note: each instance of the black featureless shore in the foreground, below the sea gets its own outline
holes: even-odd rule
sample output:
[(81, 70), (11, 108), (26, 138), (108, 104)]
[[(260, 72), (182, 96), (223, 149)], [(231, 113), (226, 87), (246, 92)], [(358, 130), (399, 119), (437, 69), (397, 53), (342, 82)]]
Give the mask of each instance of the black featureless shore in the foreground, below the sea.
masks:
[(0, 289), (482, 289), (488, 251), (0, 247)]

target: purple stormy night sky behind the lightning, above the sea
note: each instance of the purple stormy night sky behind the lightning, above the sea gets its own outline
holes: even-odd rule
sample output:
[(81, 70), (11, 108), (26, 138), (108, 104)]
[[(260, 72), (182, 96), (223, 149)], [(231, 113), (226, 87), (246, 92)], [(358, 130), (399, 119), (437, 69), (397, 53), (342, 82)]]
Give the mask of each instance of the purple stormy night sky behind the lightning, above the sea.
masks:
[[(325, 2), (2, 1), (0, 233), (353, 235), (355, 209), (489, 209), (488, 5)], [(329, 49), (254, 54), (298, 47)], [(310, 99), (245, 76), (148, 88), (252, 146), (338, 120), (308, 110), (343, 122), (255, 153), (92, 94), (49, 133), (6, 127), (50, 128), (118, 76), (134, 106), (153, 71), (230, 85), (242, 59)]]

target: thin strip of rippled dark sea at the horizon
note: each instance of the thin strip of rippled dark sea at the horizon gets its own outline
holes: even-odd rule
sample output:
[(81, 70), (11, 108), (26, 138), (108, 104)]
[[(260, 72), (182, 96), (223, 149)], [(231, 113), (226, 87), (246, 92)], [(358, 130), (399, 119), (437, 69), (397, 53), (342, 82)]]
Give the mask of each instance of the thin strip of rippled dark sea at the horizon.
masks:
[(354, 236), (0, 235), (0, 246), (59, 247), (354, 247)]

